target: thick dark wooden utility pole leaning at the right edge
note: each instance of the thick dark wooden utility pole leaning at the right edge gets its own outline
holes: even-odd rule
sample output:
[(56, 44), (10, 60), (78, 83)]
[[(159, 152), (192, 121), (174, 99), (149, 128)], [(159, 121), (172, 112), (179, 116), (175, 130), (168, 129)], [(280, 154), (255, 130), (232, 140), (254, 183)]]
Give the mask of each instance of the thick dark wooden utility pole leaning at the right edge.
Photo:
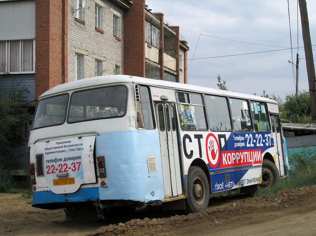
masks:
[(304, 42), (304, 51), (306, 58), (307, 67), (307, 78), (309, 85), (309, 96), (311, 100), (311, 116), (312, 120), (316, 120), (316, 75), (315, 75), (315, 65), (313, 59), (311, 35), (309, 32), (309, 22), (307, 15), (306, 0), (298, 0), (301, 12), (301, 24), (302, 24), (302, 34)]

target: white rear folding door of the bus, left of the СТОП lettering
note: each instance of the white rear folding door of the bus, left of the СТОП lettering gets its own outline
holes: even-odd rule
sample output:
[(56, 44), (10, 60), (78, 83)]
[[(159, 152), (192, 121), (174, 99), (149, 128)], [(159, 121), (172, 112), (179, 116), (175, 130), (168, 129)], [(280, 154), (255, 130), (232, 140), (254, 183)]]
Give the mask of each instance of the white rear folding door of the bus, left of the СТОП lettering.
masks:
[(155, 103), (165, 198), (182, 194), (175, 104)]

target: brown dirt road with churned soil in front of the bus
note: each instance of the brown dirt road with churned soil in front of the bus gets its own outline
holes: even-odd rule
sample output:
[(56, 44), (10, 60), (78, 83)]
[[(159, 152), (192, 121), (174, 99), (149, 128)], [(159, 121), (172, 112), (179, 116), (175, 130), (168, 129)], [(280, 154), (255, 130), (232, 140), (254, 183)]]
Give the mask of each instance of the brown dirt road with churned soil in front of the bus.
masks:
[(0, 194), (1, 235), (316, 235), (316, 186), (256, 199), (210, 199), (198, 214), (154, 206), (130, 218), (93, 223), (66, 222), (63, 210), (33, 208), (20, 196)]

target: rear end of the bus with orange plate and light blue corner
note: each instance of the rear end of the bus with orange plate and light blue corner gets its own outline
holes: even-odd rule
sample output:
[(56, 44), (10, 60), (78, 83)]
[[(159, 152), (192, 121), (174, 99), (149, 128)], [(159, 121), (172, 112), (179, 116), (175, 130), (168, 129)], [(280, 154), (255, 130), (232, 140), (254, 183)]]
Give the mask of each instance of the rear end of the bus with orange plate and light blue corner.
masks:
[[(164, 201), (159, 134), (135, 128), (133, 85), (88, 86), (96, 81), (40, 96), (29, 139), (33, 207), (94, 221)], [(149, 159), (156, 171), (149, 171)]]

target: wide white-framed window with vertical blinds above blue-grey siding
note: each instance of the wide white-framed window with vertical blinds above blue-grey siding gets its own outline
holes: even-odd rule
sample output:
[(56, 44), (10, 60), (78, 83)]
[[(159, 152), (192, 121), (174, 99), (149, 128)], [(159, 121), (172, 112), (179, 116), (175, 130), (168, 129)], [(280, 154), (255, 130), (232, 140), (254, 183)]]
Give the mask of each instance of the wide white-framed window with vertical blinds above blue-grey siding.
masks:
[(0, 41), (0, 73), (34, 73), (35, 41)]

